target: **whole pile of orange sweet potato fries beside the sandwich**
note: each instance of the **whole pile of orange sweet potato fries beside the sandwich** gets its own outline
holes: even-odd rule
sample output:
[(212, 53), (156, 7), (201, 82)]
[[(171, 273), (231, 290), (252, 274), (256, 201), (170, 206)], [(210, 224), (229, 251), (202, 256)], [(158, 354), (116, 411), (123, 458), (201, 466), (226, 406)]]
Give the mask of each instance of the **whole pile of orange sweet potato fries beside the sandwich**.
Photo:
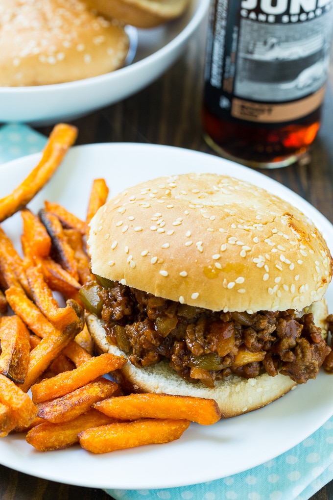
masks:
[(0, 227), (0, 436), (24, 432), (40, 451), (80, 443), (93, 453), (178, 439), (190, 421), (219, 420), (216, 402), (124, 395), (104, 375), (121, 368), (125, 358), (94, 355), (85, 324), (79, 290), (93, 279), (86, 236), (107, 199), (105, 180), (94, 180), (85, 220), (50, 201), (37, 214), (27, 207), (76, 135), (75, 127), (57, 124), (39, 163), (0, 199), (0, 221), (20, 211), (23, 222), (21, 253)]

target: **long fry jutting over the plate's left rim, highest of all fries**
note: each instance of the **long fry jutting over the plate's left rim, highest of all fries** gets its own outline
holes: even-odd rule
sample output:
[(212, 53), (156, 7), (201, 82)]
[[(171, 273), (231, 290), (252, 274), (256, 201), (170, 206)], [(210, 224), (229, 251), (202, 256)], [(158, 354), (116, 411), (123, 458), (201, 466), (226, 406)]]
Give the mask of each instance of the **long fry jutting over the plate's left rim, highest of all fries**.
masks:
[(39, 163), (10, 194), (0, 199), (0, 222), (26, 206), (46, 184), (76, 136), (77, 128), (72, 125), (58, 123), (54, 126)]

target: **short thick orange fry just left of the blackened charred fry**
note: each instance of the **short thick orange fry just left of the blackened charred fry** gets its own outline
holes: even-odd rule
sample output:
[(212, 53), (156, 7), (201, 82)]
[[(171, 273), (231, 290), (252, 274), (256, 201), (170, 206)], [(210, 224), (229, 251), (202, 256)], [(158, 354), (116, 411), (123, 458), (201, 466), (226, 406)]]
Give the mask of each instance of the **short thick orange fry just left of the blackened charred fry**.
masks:
[(51, 238), (39, 217), (28, 208), (21, 210), (23, 221), (23, 232), (21, 235), (23, 253), (27, 253), (32, 259), (35, 257), (46, 257), (51, 250)]

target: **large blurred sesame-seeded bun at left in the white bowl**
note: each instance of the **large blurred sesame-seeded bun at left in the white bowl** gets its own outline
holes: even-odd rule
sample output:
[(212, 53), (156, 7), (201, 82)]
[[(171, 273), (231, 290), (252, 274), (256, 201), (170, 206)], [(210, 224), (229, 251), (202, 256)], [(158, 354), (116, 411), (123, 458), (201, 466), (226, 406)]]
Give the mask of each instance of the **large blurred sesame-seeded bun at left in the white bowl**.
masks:
[(124, 64), (123, 24), (79, 0), (0, 1), (0, 86), (48, 85)]

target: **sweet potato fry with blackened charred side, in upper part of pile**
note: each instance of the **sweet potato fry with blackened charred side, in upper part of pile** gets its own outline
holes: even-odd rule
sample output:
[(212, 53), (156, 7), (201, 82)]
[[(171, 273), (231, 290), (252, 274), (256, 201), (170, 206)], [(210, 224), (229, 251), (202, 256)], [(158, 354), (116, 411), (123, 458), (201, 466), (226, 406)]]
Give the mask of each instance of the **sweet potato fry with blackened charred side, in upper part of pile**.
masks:
[(44, 209), (39, 210), (38, 215), (50, 235), (52, 256), (74, 279), (78, 280), (74, 250), (67, 242), (60, 220)]

